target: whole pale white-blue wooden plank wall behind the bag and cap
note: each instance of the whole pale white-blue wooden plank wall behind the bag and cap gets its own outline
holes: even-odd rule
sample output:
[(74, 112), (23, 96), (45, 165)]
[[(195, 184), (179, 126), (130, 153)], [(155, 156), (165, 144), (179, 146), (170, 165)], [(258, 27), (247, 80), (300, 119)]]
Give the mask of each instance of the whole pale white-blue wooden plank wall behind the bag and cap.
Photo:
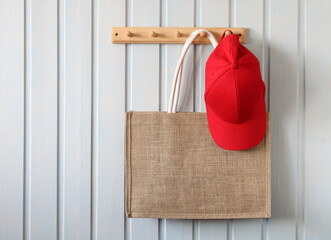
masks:
[[(0, 0), (0, 240), (331, 236), (329, 0)], [(164, 111), (182, 45), (113, 26), (246, 27), (272, 114), (270, 220), (126, 219), (124, 113)], [(210, 45), (180, 110), (204, 112)]]

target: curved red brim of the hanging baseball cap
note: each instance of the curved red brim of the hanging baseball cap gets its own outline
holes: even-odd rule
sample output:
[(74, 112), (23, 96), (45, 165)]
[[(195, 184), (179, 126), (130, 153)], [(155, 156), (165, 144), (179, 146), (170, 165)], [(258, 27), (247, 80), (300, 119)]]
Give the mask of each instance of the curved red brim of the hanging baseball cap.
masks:
[(211, 136), (221, 148), (245, 150), (257, 146), (263, 140), (267, 123), (264, 101), (256, 106), (250, 119), (242, 123), (230, 123), (222, 120), (208, 105), (206, 110)]

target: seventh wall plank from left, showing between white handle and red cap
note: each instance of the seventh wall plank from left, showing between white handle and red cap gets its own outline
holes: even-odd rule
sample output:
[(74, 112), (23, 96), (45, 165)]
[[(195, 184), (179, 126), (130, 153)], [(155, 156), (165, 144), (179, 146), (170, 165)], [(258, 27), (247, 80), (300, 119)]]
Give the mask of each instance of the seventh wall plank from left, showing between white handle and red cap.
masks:
[[(195, 25), (229, 26), (229, 1), (208, 0), (196, 2)], [(213, 51), (211, 45), (196, 46), (195, 52), (195, 111), (206, 112), (205, 105), (205, 65)], [(198, 220), (195, 221), (195, 239), (225, 240), (228, 233), (228, 220)]]

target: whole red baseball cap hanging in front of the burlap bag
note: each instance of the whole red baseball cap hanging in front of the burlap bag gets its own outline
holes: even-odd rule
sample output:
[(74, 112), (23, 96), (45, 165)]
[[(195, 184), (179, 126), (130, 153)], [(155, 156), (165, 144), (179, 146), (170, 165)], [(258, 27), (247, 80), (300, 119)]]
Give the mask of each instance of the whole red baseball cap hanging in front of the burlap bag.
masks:
[(224, 37), (225, 32), (206, 63), (208, 125), (218, 146), (244, 150), (265, 135), (265, 84), (258, 59), (239, 43), (238, 34)]

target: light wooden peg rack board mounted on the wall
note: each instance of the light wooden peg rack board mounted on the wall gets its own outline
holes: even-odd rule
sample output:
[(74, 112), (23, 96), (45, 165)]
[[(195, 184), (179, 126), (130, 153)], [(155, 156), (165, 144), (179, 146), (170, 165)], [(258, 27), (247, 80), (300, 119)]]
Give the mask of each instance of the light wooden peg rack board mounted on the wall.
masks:
[[(185, 43), (188, 36), (197, 29), (206, 29), (219, 41), (223, 32), (230, 29), (239, 34), (241, 43), (246, 43), (246, 28), (226, 27), (113, 27), (112, 43)], [(205, 34), (198, 36), (195, 44), (210, 44)]]

